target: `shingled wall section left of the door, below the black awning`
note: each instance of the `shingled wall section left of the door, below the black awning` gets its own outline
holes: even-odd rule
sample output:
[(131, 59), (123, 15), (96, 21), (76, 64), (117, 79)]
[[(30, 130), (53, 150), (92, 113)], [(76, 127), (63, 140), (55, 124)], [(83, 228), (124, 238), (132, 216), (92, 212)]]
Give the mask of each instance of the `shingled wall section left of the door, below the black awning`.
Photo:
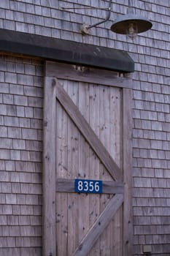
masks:
[(41, 255), (42, 65), (0, 57), (0, 255)]

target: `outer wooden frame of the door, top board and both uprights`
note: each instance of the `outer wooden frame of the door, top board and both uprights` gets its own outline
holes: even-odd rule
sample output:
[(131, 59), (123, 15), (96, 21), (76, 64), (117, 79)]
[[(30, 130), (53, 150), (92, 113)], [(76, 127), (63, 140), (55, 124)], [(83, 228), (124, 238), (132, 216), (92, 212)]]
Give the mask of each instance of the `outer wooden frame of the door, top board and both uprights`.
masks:
[(56, 255), (55, 235), (55, 117), (57, 86), (55, 78), (115, 86), (123, 90), (123, 256), (131, 255), (132, 247), (132, 80), (128, 75), (104, 69), (45, 63), (44, 150), (43, 150), (43, 255)]

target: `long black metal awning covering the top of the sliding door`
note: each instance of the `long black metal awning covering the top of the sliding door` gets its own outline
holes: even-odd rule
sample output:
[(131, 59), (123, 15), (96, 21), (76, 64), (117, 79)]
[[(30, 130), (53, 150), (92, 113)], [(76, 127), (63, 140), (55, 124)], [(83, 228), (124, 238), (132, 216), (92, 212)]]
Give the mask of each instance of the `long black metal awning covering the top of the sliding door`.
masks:
[(123, 50), (6, 29), (0, 29), (0, 51), (120, 72), (134, 72), (134, 61)]

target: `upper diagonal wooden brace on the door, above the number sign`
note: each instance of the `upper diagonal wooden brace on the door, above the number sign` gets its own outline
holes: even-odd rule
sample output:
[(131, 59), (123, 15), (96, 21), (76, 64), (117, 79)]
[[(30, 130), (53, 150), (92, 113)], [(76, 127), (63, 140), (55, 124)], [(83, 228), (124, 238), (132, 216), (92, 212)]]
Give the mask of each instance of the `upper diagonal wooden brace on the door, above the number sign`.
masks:
[(112, 178), (114, 178), (115, 181), (121, 181), (122, 172), (120, 168), (116, 165), (115, 161), (112, 159), (107, 149), (103, 146), (101, 140), (99, 140), (95, 132), (93, 132), (93, 129), (91, 129), (88, 122), (85, 120), (85, 118), (82, 117), (77, 106), (74, 105), (68, 94), (66, 94), (66, 91), (62, 89), (60, 83), (58, 83), (58, 80), (56, 80), (55, 78), (53, 78), (53, 80), (55, 80), (57, 83), (56, 97), (58, 101), (61, 103), (61, 105), (63, 105), (63, 108), (72, 118), (77, 128), (80, 129), (80, 132), (88, 141), (91, 148), (93, 148), (93, 150), (96, 152), (99, 159), (101, 159), (101, 162), (107, 168)]

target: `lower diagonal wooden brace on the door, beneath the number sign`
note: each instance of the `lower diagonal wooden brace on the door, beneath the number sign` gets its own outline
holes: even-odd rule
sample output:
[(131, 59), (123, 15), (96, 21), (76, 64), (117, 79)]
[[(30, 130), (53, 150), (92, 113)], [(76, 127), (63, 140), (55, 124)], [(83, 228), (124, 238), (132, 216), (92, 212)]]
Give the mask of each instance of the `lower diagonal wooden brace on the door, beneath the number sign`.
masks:
[(98, 217), (93, 227), (90, 228), (86, 236), (82, 239), (80, 245), (77, 247), (72, 256), (85, 256), (88, 254), (93, 244), (98, 240), (101, 233), (109, 225), (109, 222), (114, 217), (118, 208), (123, 203), (123, 195), (115, 195), (109, 200), (107, 207)]

